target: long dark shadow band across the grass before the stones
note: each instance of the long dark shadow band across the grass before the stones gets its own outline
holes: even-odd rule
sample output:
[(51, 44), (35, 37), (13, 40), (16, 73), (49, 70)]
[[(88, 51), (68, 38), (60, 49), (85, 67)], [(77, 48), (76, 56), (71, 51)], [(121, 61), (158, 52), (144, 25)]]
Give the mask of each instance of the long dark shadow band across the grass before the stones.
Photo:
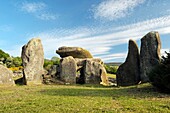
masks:
[(134, 98), (148, 98), (148, 97), (163, 97), (164, 94), (156, 92), (150, 85), (131, 86), (131, 87), (112, 87), (105, 88), (100, 86), (64, 86), (53, 89), (44, 89), (40, 91), (41, 94), (51, 96), (90, 96), (90, 97), (112, 97), (113, 99), (119, 97), (134, 97)]

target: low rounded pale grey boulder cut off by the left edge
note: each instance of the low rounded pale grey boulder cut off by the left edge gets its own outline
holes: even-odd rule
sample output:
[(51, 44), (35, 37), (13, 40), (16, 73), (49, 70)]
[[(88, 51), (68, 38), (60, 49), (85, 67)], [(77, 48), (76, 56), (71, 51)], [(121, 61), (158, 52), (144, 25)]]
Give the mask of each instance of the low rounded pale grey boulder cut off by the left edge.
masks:
[(14, 85), (13, 73), (5, 66), (0, 65), (0, 85)]

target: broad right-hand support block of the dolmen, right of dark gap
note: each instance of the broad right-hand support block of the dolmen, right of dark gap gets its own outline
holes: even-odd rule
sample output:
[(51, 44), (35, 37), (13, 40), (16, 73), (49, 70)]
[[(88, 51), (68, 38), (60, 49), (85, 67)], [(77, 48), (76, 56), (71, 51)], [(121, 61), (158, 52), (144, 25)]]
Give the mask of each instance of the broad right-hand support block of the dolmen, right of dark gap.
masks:
[[(101, 60), (100, 60), (101, 61)], [(103, 62), (86, 59), (84, 66), (85, 83), (108, 85), (108, 78)]]

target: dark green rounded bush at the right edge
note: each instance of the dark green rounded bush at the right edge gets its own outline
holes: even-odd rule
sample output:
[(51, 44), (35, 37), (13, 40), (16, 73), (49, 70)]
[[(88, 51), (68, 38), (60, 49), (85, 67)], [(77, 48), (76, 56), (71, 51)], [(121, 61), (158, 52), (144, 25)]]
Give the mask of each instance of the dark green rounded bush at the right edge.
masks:
[(170, 93), (170, 53), (149, 73), (149, 80), (159, 91)]

